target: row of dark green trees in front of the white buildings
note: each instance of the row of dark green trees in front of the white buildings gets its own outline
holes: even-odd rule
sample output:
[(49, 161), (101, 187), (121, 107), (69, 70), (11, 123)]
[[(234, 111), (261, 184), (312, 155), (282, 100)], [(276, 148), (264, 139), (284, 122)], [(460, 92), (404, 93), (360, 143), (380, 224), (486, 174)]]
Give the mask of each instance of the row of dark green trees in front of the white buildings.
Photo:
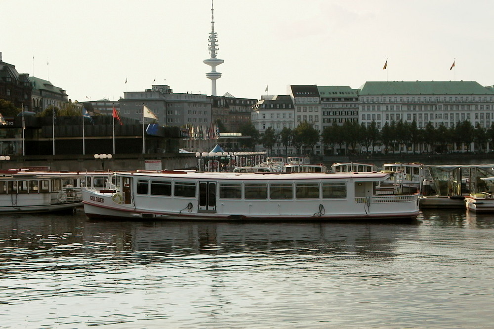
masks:
[[(335, 122), (325, 127), (320, 133), (312, 125), (303, 122), (294, 129), (284, 127), (277, 133), (273, 127), (268, 127), (262, 134), (255, 129), (252, 123), (243, 125), (239, 131), (251, 139), (244, 141), (244, 147), (254, 149), (260, 144), (269, 150), (280, 143), (285, 146), (285, 154), (289, 146), (293, 146), (297, 153), (313, 153), (318, 142), (322, 142), (326, 154), (335, 154), (342, 150), (345, 154), (365, 152), (373, 153), (377, 147), (384, 153), (391, 152), (433, 152), (446, 153), (455, 150), (484, 151), (488, 143), (494, 141), (494, 124), (484, 128), (480, 124), (474, 127), (470, 121), (457, 122), (453, 127), (443, 124), (435, 127), (432, 122), (425, 127), (417, 127), (415, 121), (386, 122), (379, 130), (375, 121), (369, 125), (355, 121), (346, 121), (343, 125)], [(476, 149), (471, 149), (474, 143)], [(453, 148), (455, 146), (455, 148)]]

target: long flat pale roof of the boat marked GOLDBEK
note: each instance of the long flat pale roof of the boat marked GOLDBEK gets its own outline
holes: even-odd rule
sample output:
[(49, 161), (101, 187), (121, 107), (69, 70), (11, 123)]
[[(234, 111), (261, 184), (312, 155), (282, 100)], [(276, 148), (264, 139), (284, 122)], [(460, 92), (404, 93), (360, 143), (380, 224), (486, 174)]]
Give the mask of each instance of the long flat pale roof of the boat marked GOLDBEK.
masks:
[(130, 173), (116, 172), (118, 176), (133, 176), (147, 178), (188, 178), (199, 180), (269, 180), (269, 181), (287, 181), (287, 180), (320, 180), (320, 179), (366, 179), (380, 181), (389, 176), (389, 173), (209, 173), (209, 172), (161, 172), (161, 173)]

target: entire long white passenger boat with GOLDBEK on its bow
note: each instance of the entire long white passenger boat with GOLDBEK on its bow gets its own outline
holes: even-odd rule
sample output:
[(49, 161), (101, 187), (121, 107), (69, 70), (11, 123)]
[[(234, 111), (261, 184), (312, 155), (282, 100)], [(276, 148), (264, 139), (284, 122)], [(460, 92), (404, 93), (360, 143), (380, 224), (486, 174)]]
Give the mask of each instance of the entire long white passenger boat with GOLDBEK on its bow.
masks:
[(375, 195), (386, 173), (114, 173), (115, 189), (82, 189), (89, 218), (413, 219), (418, 194)]

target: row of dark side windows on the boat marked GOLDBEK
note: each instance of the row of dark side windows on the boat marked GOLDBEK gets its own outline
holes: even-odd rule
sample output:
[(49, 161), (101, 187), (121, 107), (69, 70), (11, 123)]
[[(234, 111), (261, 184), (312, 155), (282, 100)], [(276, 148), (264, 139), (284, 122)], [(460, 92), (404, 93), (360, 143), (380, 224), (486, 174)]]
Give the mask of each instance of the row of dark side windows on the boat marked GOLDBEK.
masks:
[[(293, 188), (295, 187), (295, 188)], [(137, 194), (190, 197), (196, 196), (196, 183), (171, 181), (137, 181)], [(220, 183), (220, 199), (331, 199), (346, 198), (346, 183)]]

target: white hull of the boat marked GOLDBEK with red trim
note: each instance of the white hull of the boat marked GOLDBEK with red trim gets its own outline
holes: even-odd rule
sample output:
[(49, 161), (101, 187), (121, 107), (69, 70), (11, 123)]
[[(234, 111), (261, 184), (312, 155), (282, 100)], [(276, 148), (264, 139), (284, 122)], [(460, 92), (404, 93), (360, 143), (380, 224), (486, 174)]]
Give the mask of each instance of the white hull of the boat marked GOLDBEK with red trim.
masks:
[[(219, 200), (214, 211), (198, 210), (198, 200), (172, 199), (154, 203), (119, 204), (111, 193), (83, 190), (84, 212), (89, 218), (127, 219), (414, 219), (419, 214), (418, 194), (341, 200)], [(147, 201), (147, 202), (146, 202)]]

